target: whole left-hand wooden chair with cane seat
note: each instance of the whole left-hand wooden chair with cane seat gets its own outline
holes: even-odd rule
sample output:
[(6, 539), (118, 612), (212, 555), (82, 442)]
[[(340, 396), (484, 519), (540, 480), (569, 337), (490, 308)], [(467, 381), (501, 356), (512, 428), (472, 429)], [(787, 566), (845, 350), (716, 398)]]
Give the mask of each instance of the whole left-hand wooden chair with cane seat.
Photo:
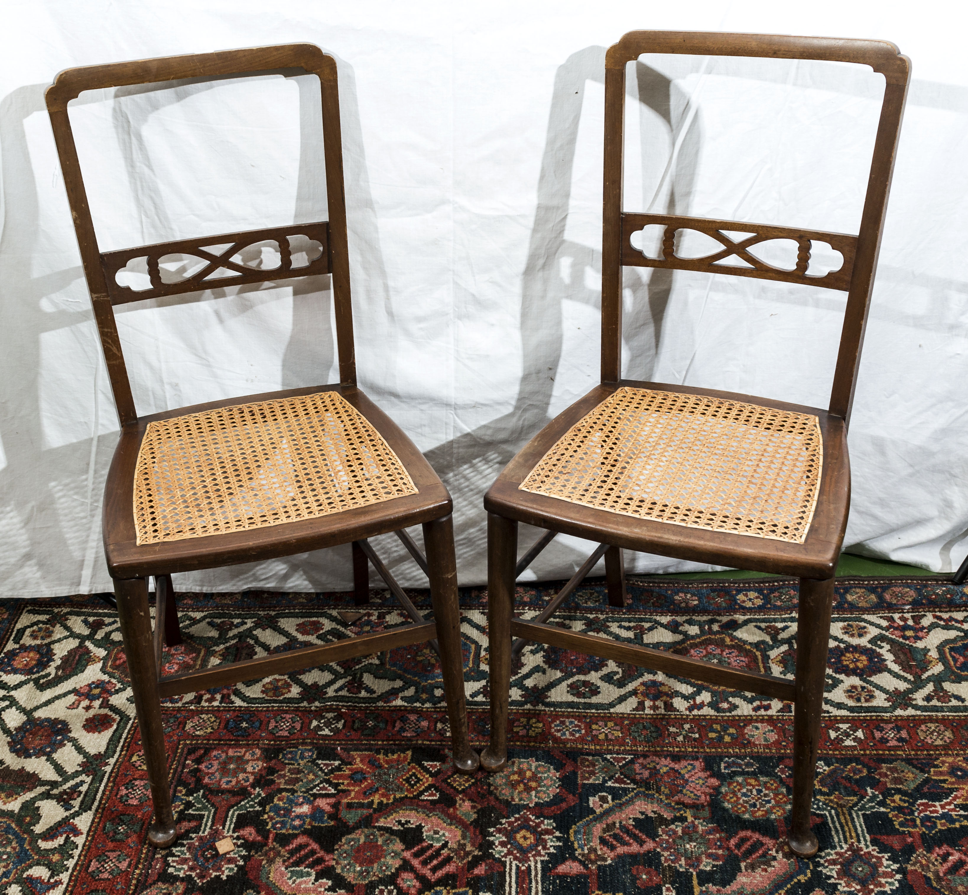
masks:
[[(328, 222), (182, 239), (120, 252), (99, 250), (68, 116), (71, 100), (83, 90), (287, 69), (319, 78)], [(154, 799), (149, 841), (164, 848), (176, 837), (160, 698), (411, 643), (430, 641), (438, 648), (435, 637), (439, 638), (454, 763), (462, 771), (474, 770), (478, 760), (468, 743), (450, 495), (407, 435), (356, 387), (335, 60), (318, 46), (293, 44), (69, 69), (47, 89), (46, 103), (121, 423), (107, 476), (104, 539)], [(293, 254), (289, 237), (299, 236), (318, 243), (318, 258), (313, 259), (311, 252)], [(265, 241), (277, 245), (280, 265), (261, 270), (245, 264), (239, 253)], [(175, 253), (193, 254), (207, 263), (186, 280), (166, 283), (160, 276), (159, 259)], [(150, 288), (133, 291), (120, 285), (116, 274), (137, 257), (147, 258)], [(213, 283), (208, 278), (219, 268), (235, 276), (223, 273)], [(332, 275), (338, 385), (287, 389), (138, 416), (115, 326), (115, 305), (213, 286), (325, 274)], [(404, 530), (416, 524), (423, 525), (426, 559)], [(391, 531), (397, 532), (430, 579), (434, 620), (416, 611), (368, 543), (368, 538)], [(356, 602), (369, 599), (369, 558), (400, 598), (412, 624), (202, 671), (161, 674), (162, 641), (179, 640), (173, 573), (347, 542), (353, 543)], [(155, 579), (157, 593), (154, 633), (149, 576)]]

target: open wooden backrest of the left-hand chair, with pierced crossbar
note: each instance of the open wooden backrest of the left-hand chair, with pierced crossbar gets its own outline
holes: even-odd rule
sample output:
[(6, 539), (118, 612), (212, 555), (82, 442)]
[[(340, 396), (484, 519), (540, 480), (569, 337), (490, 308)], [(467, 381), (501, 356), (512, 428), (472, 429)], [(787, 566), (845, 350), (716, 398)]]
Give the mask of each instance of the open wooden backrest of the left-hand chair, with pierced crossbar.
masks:
[[(151, 84), (185, 78), (214, 79), (228, 75), (257, 75), (292, 69), (301, 69), (308, 75), (317, 75), (319, 78), (326, 194), (329, 204), (328, 221), (200, 236), (195, 239), (140, 246), (119, 252), (101, 252), (91, 220), (91, 211), (77, 159), (74, 134), (68, 117), (68, 103), (71, 100), (76, 99), (84, 90)], [(84, 277), (91, 293), (111, 390), (114, 393), (122, 426), (134, 422), (137, 419), (137, 413), (131, 383), (125, 368), (124, 354), (118, 339), (114, 306), (147, 298), (197, 292), (227, 284), (275, 282), (293, 277), (332, 274), (340, 381), (344, 384), (355, 384), (356, 365), (353, 355), (352, 310), (349, 299), (347, 213), (343, 187), (340, 104), (336, 60), (332, 56), (326, 55), (318, 46), (312, 44), (288, 44), (189, 56), (168, 56), (161, 59), (139, 59), (112, 65), (85, 66), (67, 69), (57, 75), (53, 84), (47, 88), (45, 99), (57, 144), (57, 154), (64, 172), (68, 201), (74, 216)], [(287, 237), (299, 235), (318, 242), (322, 247), (322, 253), (312, 260), (309, 259), (310, 255), (306, 254), (308, 263), (296, 266), (290, 254)], [(279, 247), (281, 256), (279, 267), (263, 270), (231, 260), (247, 246), (266, 240), (275, 241)], [(164, 283), (159, 271), (159, 259), (167, 254), (177, 253), (196, 254), (208, 263), (186, 280), (178, 283)], [(117, 283), (116, 275), (131, 259), (137, 257), (148, 259), (150, 288), (134, 291)], [(213, 278), (212, 275), (220, 268), (230, 271), (234, 276), (223, 279), (224, 275), (220, 275), (218, 278)]]

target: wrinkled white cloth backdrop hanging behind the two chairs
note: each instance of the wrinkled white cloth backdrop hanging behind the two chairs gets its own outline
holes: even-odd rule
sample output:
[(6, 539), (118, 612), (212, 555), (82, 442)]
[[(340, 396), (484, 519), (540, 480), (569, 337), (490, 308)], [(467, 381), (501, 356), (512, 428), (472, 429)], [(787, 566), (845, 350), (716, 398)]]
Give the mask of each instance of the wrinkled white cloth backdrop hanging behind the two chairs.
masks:
[[(53, 75), (296, 41), (337, 57), (360, 382), (453, 493), (461, 581), (479, 583), (483, 492), (596, 381), (604, 51), (635, 28), (883, 38), (912, 58), (850, 433), (845, 544), (933, 571), (956, 567), (968, 549), (960, 8), (6, 6), (0, 595), (110, 586), (100, 515), (117, 422), (45, 112)], [(643, 60), (629, 77), (625, 207), (856, 232), (880, 83), (855, 66)], [(102, 249), (324, 219), (317, 97), (312, 79), (281, 76), (84, 94), (71, 114)], [(626, 375), (826, 404), (842, 293), (641, 268), (625, 282)], [(335, 381), (329, 314), (320, 278), (125, 306), (118, 319), (138, 409)], [(523, 528), (522, 545), (535, 534)], [(396, 539), (379, 541), (402, 580), (420, 584)], [(567, 576), (588, 548), (562, 538), (533, 574)], [(633, 563), (709, 568), (648, 555)], [(180, 576), (176, 586), (349, 582), (345, 547)]]

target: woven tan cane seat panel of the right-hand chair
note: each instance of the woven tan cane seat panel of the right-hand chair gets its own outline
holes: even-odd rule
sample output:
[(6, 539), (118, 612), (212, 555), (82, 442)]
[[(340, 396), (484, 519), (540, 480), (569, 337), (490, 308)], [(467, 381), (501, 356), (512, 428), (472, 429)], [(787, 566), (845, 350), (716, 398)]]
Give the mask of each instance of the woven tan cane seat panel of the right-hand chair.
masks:
[(639, 519), (802, 544), (822, 466), (816, 416), (626, 387), (562, 435), (520, 488)]

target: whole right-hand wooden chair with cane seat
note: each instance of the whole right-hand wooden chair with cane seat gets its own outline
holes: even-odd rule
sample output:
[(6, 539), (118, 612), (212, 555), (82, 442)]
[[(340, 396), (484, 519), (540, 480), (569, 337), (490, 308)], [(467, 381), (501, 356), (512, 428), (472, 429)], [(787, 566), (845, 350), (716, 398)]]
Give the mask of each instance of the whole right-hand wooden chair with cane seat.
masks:
[[(862, 63), (884, 75), (886, 91), (857, 236), (621, 211), (626, 63), (643, 53), (763, 56)], [(908, 60), (881, 41), (634, 31), (605, 63), (605, 191), (602, 243), (601, 384), (549, 423), (507, 464), (484, 498), (488, 510), (491, 743), (488, 770), (507, 761), (511, 656), (538, 641), (794, 702), (794, 793), (789, 842), (817, 850), (810, 800), (820, 735), (833, 576), (850, 505), (847, 424), (864, 321), (881, 240), (897, 135), (909, 80)], [(649, 257), (633, 233), (664, 226)], [(722, 251), (686, 259), (675, 252), (681, 229), (706, 233)], [(731, 238), (723, 231), (733, 232)], [(753, 234), (737, 237), (736, 231)], [(799, 247), (796, 268), (764, 263), (747, 249), (770, 239)], [(808, 272), (810, 243), (830, 244), (842, 267)], [(739, 255), (747, 266), (716, 263)], [(811, 283), (847, 292), (830, 407), (621, 378), (621, 268), (638, 265)], [(517, 525), (548, 529), (516, 561)], [(601, 542), (536, 618), (513, 616), (514, 582), (557, 532)], [(646, 551), (800, 578), (796, 679), (740, 671), (646, 646), (549, 625), (552, 612), (604, 554), (608, 597), (624, 603), (622, 550)], [(512, 646), (511, 637), (520, 640)]]

